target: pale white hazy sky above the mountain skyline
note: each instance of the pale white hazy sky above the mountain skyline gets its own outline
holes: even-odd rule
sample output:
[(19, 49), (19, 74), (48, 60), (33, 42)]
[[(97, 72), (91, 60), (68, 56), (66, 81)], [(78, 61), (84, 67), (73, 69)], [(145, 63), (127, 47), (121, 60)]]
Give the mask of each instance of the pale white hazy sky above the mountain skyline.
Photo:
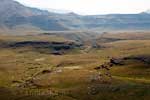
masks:
[(150, 9), (150, 0), (17, 0), (27, 6), (70, 10), (78, 14), (139, 13)]

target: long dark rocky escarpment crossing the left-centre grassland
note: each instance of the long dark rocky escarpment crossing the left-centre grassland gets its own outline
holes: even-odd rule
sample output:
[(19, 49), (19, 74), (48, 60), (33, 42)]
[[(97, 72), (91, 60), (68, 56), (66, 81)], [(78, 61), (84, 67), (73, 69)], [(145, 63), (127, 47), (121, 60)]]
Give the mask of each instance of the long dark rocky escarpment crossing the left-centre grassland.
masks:
[(75, 48), (81, 48), (82, 45), (70, 41), (66, 41), (66, 42), (23, 41), (23, 42), (10, 43), (5, 47), (11, 49), (25, 48), (23, 50), (27, 49), (27, 50), (38, 51), (40, 53), (62, 55), (68, 52), (69, 50), (73, 50)]

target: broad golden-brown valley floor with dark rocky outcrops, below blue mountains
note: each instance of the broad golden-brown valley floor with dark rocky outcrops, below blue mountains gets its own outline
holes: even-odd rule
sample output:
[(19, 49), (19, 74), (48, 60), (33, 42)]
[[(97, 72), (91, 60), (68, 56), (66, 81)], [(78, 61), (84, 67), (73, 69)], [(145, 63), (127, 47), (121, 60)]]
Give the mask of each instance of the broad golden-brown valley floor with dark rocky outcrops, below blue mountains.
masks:
[(96, 34), (88, 40), (59, 32), (1, 35), (0, 98), (148, 100), (149, 37), (147, 32)]

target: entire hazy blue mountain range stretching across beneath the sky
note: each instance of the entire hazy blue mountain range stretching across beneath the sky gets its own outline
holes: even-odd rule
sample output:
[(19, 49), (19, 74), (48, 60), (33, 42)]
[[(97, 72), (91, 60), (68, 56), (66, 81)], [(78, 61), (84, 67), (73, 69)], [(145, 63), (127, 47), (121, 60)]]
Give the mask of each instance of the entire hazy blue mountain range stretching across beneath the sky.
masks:
[[(149, 13), (149, 11), (147, 11)], [(26, 7), (13, 0), (1, 0), (0, 29), (27, 28), (28, 30), (149, 30), (150, 14), (108, 14), (81, 16), (59, 14)]]

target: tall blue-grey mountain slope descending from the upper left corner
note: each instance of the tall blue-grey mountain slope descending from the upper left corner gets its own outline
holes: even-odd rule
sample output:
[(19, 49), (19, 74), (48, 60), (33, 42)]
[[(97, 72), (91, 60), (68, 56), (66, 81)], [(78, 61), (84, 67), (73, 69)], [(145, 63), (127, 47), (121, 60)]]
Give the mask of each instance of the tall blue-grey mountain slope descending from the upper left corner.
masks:
[(31, 25), (42, 30), (64, 30), (63, 25), (49, 18), (48, 11), (29, 8), (13, 0), (2, 0), (0, 3), (0, 25), (9, 29), (18, 25)]

